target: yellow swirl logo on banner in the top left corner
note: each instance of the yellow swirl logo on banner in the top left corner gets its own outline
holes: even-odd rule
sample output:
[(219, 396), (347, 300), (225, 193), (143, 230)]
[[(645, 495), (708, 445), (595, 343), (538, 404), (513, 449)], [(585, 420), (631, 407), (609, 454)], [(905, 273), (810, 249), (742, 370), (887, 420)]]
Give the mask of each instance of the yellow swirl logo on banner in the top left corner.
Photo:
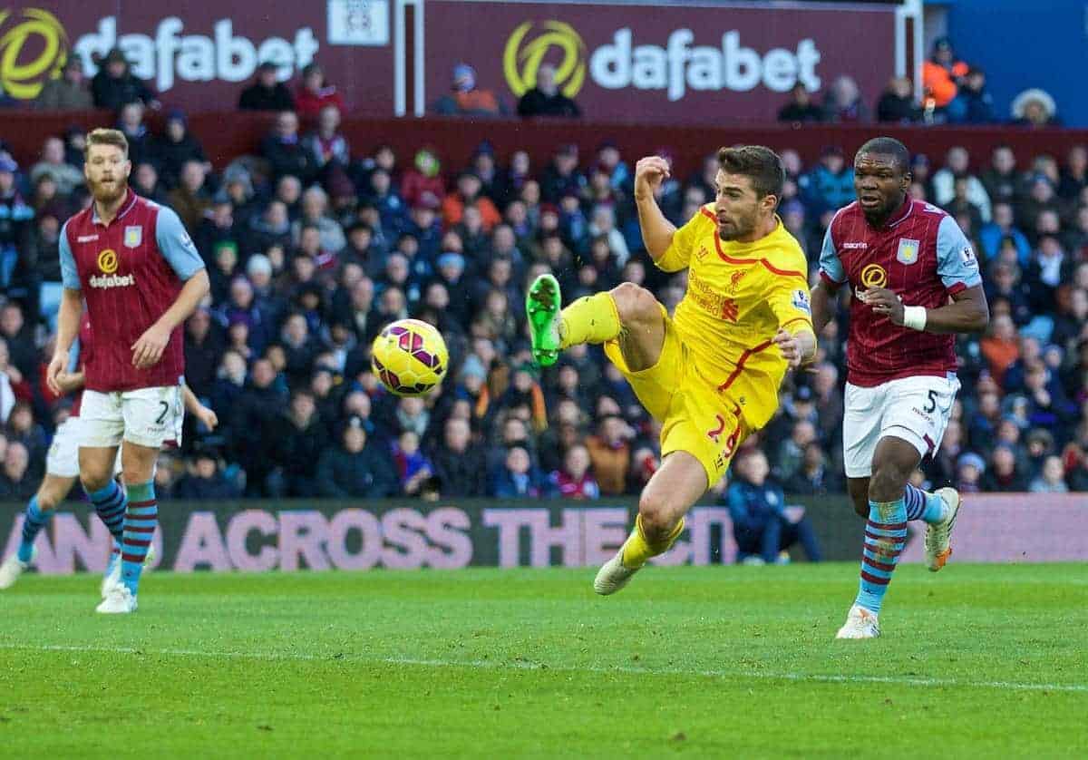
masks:
[(20, 100), (38, 97), (46, 79), (60, 76), (69, 57), (67, 33), (49, 11), (0, 11), (0, 86)]

